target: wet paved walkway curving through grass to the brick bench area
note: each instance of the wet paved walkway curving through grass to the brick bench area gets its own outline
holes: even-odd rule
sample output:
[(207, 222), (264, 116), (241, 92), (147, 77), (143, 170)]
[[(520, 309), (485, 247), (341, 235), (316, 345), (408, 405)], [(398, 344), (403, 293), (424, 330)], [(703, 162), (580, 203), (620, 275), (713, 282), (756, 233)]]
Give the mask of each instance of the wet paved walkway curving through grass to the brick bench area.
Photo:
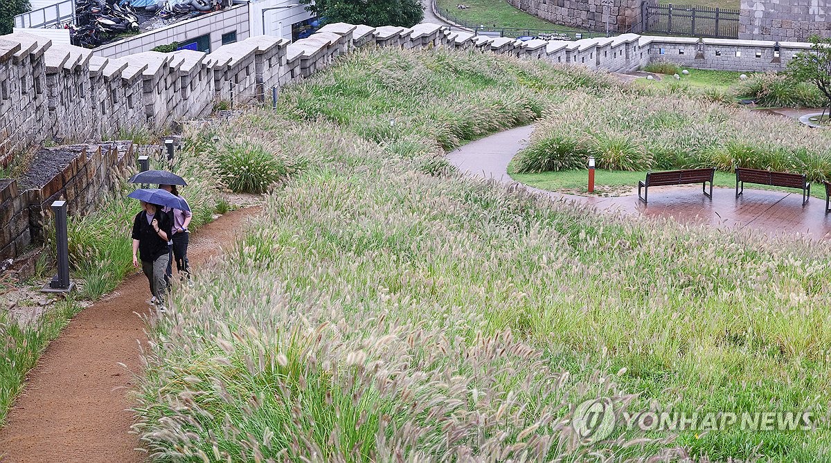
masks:
[[(508, 163), (524, 148), (533, 132), (533, 125), (505, 130), (465, 144), (448, 154), (447, 158), (462, 172), (516, 184), (508, 175)], [(555, 200), (581, 202), (600, 211), (643, 217), (673, 217), (679, 222), (740, 228), (770, 235), (801, 233), (813, 239), (831, 239), (831, 214), (824, 213), (825, 202), (813, 197), (803, 207), (802, 193), (789, 193), (784, 189), (745, 188), (745, 194), (737, 199), (733, 188), (714, 188), (711, 200), (701, 194), (701, 188), (697, 185), (661, 187), (650, 192), (647, 206), (638, 200), (637, 194), (621, 197), (576, 196), (529, 186), (525, 188)], [(814, 184), (814, 188), (821, 188), (821, 185)]]

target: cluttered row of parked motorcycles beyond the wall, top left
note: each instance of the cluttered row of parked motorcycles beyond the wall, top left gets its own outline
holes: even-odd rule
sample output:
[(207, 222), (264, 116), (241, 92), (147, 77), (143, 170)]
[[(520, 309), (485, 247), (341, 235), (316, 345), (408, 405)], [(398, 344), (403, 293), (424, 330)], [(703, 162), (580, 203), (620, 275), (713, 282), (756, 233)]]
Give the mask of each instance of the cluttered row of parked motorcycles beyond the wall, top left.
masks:
[(178, 20), (221, 8), (220, 0), (76, 0), (76, 24), (67, 28), (72, 45), (94, 48), (121, 34), (140, 32), (140, 16)]

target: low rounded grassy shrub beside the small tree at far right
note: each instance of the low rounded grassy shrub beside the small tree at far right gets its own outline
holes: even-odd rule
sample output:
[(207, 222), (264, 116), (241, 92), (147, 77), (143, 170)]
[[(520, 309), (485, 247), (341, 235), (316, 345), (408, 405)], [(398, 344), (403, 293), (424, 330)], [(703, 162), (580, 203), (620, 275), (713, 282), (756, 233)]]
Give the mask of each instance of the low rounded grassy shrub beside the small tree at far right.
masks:
[(825, 96), (814, 85), (773, 72), (755, 74), (740, 82), (736, 95), (774, 108), (816, 108), (825, 104)]

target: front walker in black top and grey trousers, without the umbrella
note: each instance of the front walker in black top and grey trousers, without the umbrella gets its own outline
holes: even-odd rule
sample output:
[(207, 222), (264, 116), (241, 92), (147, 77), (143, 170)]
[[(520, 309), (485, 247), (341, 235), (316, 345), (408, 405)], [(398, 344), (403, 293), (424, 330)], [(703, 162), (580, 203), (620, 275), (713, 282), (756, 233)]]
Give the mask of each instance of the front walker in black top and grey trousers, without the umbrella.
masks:
[[(133, 221), (133, 266), (138, 268), (140, 256), (141, 270), (150, 281), (150, 292), (159, 310), (164, 312), (167, 290), (165, 274), (170, 262), (167, 242), (173, 223), (170, 215), (161, 211), (161, 206), (142, 201), (141, 207), (144, 210), (136, 214)], [(136, 256), (136, 252), (139, 256)]]

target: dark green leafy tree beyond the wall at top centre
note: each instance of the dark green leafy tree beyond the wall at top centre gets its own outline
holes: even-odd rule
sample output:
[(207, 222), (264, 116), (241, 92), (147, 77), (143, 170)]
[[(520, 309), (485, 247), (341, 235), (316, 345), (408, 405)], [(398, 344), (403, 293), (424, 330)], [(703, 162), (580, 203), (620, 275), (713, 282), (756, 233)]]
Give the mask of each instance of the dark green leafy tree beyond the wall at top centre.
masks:
[(300, 0), (326, 22), (413, 27), (424, 19), (420, 0)]

